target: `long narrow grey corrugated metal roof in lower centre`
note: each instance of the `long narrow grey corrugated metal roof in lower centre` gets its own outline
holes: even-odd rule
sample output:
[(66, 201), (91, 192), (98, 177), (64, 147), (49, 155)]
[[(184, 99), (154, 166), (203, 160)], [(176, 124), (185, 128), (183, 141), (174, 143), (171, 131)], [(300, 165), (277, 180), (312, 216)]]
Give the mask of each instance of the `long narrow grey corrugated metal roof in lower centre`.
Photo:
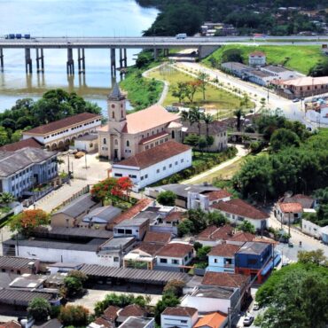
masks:
[(148, 270), (113, 268), (97, 264), (84, 264), (80, 269), (87, 276), (116, 277), (128, 279), (130, 282), (165, 285), (170, 280), (188, 281), (190, 277), (186, 273)]

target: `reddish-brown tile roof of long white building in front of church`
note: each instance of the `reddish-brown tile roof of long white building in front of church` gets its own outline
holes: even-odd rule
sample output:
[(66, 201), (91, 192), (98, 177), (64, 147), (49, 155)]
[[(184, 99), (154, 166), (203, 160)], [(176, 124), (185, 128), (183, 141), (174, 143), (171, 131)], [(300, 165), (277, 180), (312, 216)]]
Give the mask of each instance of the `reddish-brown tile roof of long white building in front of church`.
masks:
[(144, 152), (139, 152), (137, 155), (129, 157), (127, 160), (121, 160), (113, 164), (113, 168), (117, 166), (149, 168), (150, 166), (159, 163), (162, 160), (176, 156), (180, 153), (191, 150), (191, 147), (186, 144), (180, 144), (176, 141), (168, 141)]

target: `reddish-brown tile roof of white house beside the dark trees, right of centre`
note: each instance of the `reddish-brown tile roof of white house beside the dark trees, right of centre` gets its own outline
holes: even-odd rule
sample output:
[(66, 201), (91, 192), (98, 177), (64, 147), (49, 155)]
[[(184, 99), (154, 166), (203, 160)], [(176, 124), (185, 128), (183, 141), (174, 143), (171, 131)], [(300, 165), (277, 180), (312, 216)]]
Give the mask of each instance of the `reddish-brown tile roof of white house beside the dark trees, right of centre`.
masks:
[(269, 218), (269, 215), (267, 215), (265, 212), (257, 209), (256, 207), (253, 207), (252, 205), (249, 205), (242, 199), (220, 201), (217, 204), (213, 204), (212, 207), (232, 215), (244, 216), (254, 220), (263, 220)]

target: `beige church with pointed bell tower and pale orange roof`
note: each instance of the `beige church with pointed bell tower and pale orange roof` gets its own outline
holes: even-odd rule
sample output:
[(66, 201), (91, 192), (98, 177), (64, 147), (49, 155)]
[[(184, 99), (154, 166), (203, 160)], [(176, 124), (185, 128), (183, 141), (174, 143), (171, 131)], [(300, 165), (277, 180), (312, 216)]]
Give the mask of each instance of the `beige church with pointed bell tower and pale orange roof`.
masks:
[(108, 124), (98, 129), (99, 156), (118, 161), (168, 141), (182, 142), (180, 116), (161, 105), (127, 114), (117, 83), (107, 98)]

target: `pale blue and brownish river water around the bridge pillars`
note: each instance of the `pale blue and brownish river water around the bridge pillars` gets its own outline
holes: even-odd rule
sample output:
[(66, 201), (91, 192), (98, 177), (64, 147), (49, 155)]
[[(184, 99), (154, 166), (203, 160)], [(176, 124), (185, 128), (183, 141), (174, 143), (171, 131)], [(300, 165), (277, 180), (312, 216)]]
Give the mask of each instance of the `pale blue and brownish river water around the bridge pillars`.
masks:
[[(158, 11), (142, 8), (134, 0), (0, 0), (0, 35), (31, 36), (137, 36), (152, 25)], [(128, 50), (128, 64), (137, 50)], [(0, 72), (0, 112), (18, 98), (39, 98), (53, 88), (75, 91), (105, 109), (105, 96), (113, 83), (109, 50), (85, 50), (86, 74), (67, 78), (66, 50), (44, 50), (44, 74), (36, 74), (35, 50), (31, 50), (33, 74), (25, 74), (24, 50), (4, 49), (4, 73)], [(119, 74), (118, 74), (119, 76)]]

